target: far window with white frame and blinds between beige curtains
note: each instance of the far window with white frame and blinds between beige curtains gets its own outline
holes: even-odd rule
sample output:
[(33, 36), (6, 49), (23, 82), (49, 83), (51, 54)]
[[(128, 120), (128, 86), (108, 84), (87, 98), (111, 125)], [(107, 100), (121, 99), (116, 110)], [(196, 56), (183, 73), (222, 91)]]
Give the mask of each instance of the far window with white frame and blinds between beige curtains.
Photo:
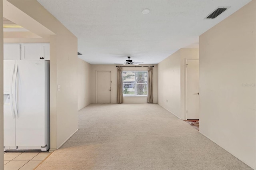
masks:
[(148, 95), (147, 71), (123, 71), (122, 76), (124, 96)]

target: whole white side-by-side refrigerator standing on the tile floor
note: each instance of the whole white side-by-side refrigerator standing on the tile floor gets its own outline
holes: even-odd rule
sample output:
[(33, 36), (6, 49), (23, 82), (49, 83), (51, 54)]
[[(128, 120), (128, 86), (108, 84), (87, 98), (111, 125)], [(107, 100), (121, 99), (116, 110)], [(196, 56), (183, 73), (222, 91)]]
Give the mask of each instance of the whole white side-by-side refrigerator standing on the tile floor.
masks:
[(4, 60), (4, 151), (50, 148), (49, 62)]

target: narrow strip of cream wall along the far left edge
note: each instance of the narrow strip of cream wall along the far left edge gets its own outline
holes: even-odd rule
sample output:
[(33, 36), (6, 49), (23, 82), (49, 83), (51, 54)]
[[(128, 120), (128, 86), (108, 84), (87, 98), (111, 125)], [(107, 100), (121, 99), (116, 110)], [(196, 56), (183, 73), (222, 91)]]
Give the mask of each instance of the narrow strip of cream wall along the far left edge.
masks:
[[(3, 25), (3, 1), (0, 0), (0, 26)], [(4, 150), (2, 149), (2, 146), (4, 146), (4, 94), (3, 94), (3, 61), (4, 61), (4, 42), (3, 42), (3, 27), (0, 27), (0, 170), (4, 169)]]

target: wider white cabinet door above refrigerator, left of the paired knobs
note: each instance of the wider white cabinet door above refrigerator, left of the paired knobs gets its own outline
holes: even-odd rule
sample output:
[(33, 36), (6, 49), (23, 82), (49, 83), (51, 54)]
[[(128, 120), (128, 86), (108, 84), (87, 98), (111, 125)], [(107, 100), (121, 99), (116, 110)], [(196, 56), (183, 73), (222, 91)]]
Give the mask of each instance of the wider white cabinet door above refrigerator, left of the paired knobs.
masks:
[(40, 59), (42, 44), (22, 44), (21, 51), (21, 59)]

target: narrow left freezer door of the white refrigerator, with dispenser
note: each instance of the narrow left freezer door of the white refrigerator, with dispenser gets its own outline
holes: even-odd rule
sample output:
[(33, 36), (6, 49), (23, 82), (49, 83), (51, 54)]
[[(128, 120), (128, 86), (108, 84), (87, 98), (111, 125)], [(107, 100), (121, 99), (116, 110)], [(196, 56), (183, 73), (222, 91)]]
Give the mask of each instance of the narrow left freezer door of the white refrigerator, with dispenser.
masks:
[(14, 60), (4, 60), (4, 146), (16, 146), (15, 115), (11, 101), (14, 65)]

